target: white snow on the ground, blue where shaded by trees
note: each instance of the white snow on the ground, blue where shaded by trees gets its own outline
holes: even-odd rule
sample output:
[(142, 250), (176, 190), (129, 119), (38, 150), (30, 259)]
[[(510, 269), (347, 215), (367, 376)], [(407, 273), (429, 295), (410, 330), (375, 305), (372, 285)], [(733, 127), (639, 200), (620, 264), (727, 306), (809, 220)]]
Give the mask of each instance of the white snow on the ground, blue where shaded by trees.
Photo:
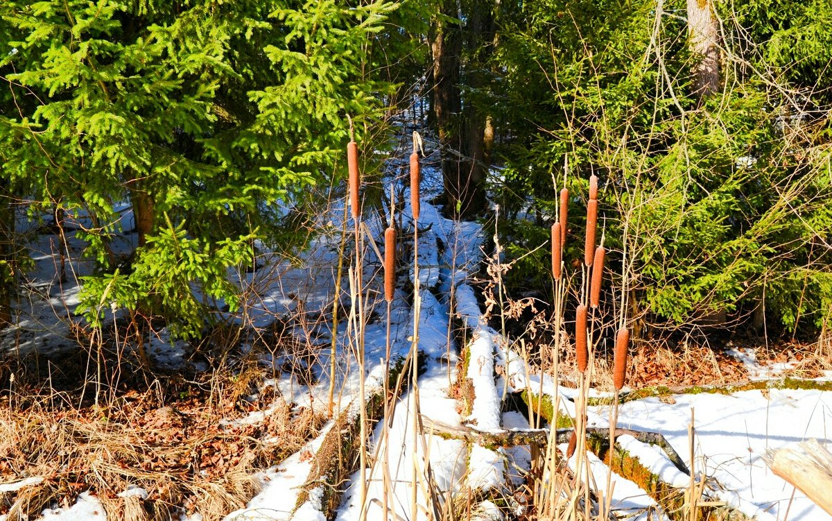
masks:
[[(436, 191), (440, 179), (438, 172), (426, 164), (423, 166), (423, 177), (428, 185), (433, 183), (433, 191)], [(404, 221), (404, 230), (400, 233), (412, 234), (414, 226), (409, 206), (405, 205), (399, 210)], [(129, 211), (126, 213), (129, 214)], [(327, 217), (331, 220), (331, 230), (340, 229), (341, 215), (340, 208), (332, 209)], [(366, 224), (380, 248), (383, 241), (379, 241), (379, 238), (386, 223), (369, 219)], [(129, 226), (125, 228), (129, 229)], [(483, 231), (476, 223), (445, 219), (427, 201), (422, 203), (418, 229), (418, 277), (412, 266), (408, 270), (404, 269), (409, 261), (403, 260), (399, 280), (407, 278), (413, 284), (418, 278), (419, 306), (414, 307), (412, 295), (398, 290), (391, 306), (390, 351), (397, 356), (407, 355), (414, 344), (415, 325), (418, 324), (416, 345), (424, 364), (418, 385), (418, 412), (422, 415), (423, 430), (429, 432), (432, 422), (457, 426), (470, 424), (482, 430), (527, 429), (528, 424), (522, 414), (512, 411), (501, 413), (503, 380), (495, 379), (495, 365), (505, 365), (506, 360), (516, 360), (516, 356), (507, 353), (503, 338), (485, 324), (475, 292), (468, 284), (475, 265), (483, 255)], [(126, 236), (125, 241), (127, 240), (129, 236)], [(80, 320), (72, 313), (80, 289), (77, 275), (85, 275), (91, 268), (86, 261), (78, 258), (77, 252), (82, 244), (70, 234), (70, 256), (67, 259), (69, 276), (67, 282), (58, 282), (55, 276), (59, 262), (56, 244), (56, 237), (47, 235), (38, 235), (32, 242), (32, 256), (37, 269), (30, 274), (32, 281), (26, 285), (24, 298), (18, 302), (18, 324), (0, 334), (2, 353), (43, 350), (44, 354), (48, 354), (49, 350), (74, 348), (70, 326), (72, 321)], [(246, 324), (254, 327), (267, 325), (275, 316), (290, 315), (299, 306), (303, 306), (306, 311), (326, 312), (333, 299), (338, 246), (339, 234), (320, 236), (302, 256), (301, 265), (269, 256), (269, 262), (260, 270), (240, 275), (240, 285), (250, 295), (245, 306)], [(366, 248), (364, 281), (369, 291), (378, 292), (377, 294), (380, 294), (380, 265), (374, 249)], [(341, 295), (341, 298), (345, 298), (345, 295)], [(379, 297), (371, 302), (371, 307), (376, 318), (364, 330), (366, 373), (369, 380), (381, 375), (387, 351), (386, 305)], [(459, 346), (449, 330), (454, 315), (473, 334), (470, 343), (471, 363), (466, 376), (473, 383), (476, 399), (473, 413), (468, 417), (463, 417), (458, 412), (458, 404), (449, 392), (457, 378), (455, 365), (459, 352)], [(115, 317), (117, 320), (117, 313)], [(320, 329), (320, 326), (316, 327)], [(324, 332), (326, 335), (319, 339), (322, 345), (329, 345), (331, 334), (338, 338), (335, 360), (338, 368), (336, 398), (339, 407), (344, 408), (359, 399), (355, 347), (350, 340), (354, 335), (347, 320), (341, 321), (339, 330)], [(296, 330), (295, 333), (309, 332)], [(164, 331), (151, 338), (147, 347), (159, 365), (175, 367), (186, 363), (187, 345), (171, 342)], [(250, 345), (245, 343), (240, 347), (243, 350), (250, 349)], [(328, 368), (329, 361), (328, 349), (322, 349), (319, 355), (320, 367)], [(265, 356), (263, 363), (278, 367), (283, 360), (279, 355)], [(757, 371), (755, 374), (766, 375), (755, 360), (746, 357), (745, 363)], [(527, 383), (535, 392), (542, 389), (544, 393), (555, 394), (550, 379), (544, 378), (541, 387), (539, 377), (525, 374), (522, 364), (512, 364), (509, 369), (509, 380), (514, 390), (521, 390)], [(267, 384), (274, 385), (283, 399), (296, 406), (323, 411), (328, 402), (329, 379), (325, 370), (318, 370), (318, 373), (320, 378), (314, 385), (305, 385), (289, 375), (281, 377), (280, 374)], [(571, 392), (563, 388), (559, 395), (564, 399)], [(491, 450), (469, 447), (462, 441), (443, 439), (438, 435), (420, 434), (414, 437), (416, 407), (413, 393), (405, 391), (396, 404), (390, 428), (385, 432), (382, 428), (384, 422), (379, 422), (369, 439), (374, 466), (367, 473), (366, 519), (382, 519), (381, 508), (385, 500), (398, 519), (410, 519), (414, 473), (417, 482), (429, 473), (435, 485), (433, 494), (426, 494), (422, 487), (416, 491), (419, 519), (427, 519), (426, 513), (437, 506), (432, 497), (447, 498), (463, 487), (508, 490), (512, 484), (522, 481), (522, 471), (529, 465), (527, 447)], [(574, 414), (574, 404), (571, 401), (563, 401), (561, 407)], [(696, 427), (692, 440), (688, 437), (687, 429), (691, 421), (691, 410)], [(260, 421), (263, 414), (268, 414), (268, 410), (235, 421)], [(607, 426), (608, 416), (607, 407), (592, 407), (589, 425)], [(768, 449), (795, 444), (803, 439), (829, 439), (830, 434), (826, 428), (828, 420), (832, 422), (832, 393), (770, 389), (730, 395), (682, 394), (672, 400), (639, 399), (622, 404), (618, 423), (629, 429), (664, 434), (689, 468), (706, 474), (707, 488), (712, 498), (721, 499), (755, 519), (785, 521), (788, 513), (791, 521), (823, 521), (832, 519), (832, 516), (825, 514), (805, 499), (800, 491), (794, 492), (783, 479), (772, 474), (766, 467), (763, 456)], [(228, 514), (225, 521), (322, 519), (314, 494), (297, 511), (295, 502), (300, 486), (306, 483), (310, 473), (310, 454), (317, 449), (329, 426), (324, 427), (318, 438), (311, 440), (304, 449), (261, 473), (259, 478), (263, 487), (260, 494), (251, 499), (245, 509)], [(677, 470), (661, 450), (642, 444), (630, 436), (622, 436), (618, 442), (668, 483), (680, 487), (689, 483), (689, 476)], [(693, 462), (687, 455), (691, 443), (696, 453)], [(590, 460), (595, 482), (606, 484), (607, 468), (592, 456)], [(385, 471), (390, 483), (387, 489), (393, 491), (386, 499), (383, 479)], [(26, 477), (20, 476), (12, 483), (0, 484), (0, 491), (10, 491), (16, 485), (22, 486), (20, 483), (24, 478)], [(648, 512), (655, 508), (655, 502), (625, 479), (613, 475), (612, 482), (613, 508), (631, 516), (631, 519), (647, 519)], [(348, 521), (361, 518), (359, 488), (359, 474), (356, 473), (344, 493), (337, 519)], [(489, 507), (485, 505), (483, 508)], [(5, 521), (5, 518), (0, 516), (0, 521)], [(56, 506), (46, 509), (40, 519), (102, 521), (106, 515), (95, 495), (87, 491), (70, 508)], [(198, 517), (191, 517), (190, 521), (198, 521)]]

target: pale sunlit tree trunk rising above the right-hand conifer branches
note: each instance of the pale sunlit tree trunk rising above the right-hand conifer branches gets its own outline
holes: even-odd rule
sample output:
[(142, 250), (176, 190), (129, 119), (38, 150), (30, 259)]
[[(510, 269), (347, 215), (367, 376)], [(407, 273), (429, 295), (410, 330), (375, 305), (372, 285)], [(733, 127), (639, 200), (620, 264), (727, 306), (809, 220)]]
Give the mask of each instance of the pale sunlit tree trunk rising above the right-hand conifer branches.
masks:
[(713, 0), (687, 0), (687, 28), (691, 51), (696, 59), (694, 88), (696, 96), (701, 99), (720, 88), (719, 27), (714, 16)]

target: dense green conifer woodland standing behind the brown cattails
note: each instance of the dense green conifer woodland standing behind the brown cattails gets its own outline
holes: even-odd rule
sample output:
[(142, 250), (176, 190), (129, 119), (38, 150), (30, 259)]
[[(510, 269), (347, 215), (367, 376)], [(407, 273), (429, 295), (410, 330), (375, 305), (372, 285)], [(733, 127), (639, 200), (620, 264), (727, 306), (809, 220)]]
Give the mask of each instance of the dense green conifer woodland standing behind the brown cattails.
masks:
[[(7, 0), (0, 327), (31, 266), (12, 216), (83, 214), (97, 273), (77, 312), (96, 325), (114, 301), (201, 335), (239, 302), (227, 269), (303, 246), (343, 193), (349, 118), (380, 207), (392, 115), (423, 109), (445, 211), (499, 216), (513, 295), (549, 300), (556, 189), (595, 173), (636, 338), (815, 336), (832, 316), (830, 63), (825, 0)], [(120, 201), (129, 255), (110, 246)]]

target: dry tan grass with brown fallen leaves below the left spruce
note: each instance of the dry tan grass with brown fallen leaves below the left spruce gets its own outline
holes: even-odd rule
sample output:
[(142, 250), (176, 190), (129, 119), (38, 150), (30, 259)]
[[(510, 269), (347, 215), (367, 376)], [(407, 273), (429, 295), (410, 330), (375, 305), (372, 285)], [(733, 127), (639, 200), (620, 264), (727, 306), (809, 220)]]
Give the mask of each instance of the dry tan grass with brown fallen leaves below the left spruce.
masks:
[[(37, 517), (90, 490), (107, 519), (171, 519), (183, 506), (206, 521), (221, 519), (257, 492), (258, 470), (300, 449), (323, 423), (310, 409), (292, 409), (270, 387), (250, 399), (262, 378), (255, 363), (240, 362), (196, 380), (126, 389), (98, 408), (68, 405), (78, 395), (67, 391), (20, 385), (4, 393), (0, 482), (43, 481), (0, 498), (0, 514), (10, 521)], [(220, 424), (258, 410), (266, 413), (260, 422)], [(147, 499), (119, 495), (131, 486), (145, 489)]]

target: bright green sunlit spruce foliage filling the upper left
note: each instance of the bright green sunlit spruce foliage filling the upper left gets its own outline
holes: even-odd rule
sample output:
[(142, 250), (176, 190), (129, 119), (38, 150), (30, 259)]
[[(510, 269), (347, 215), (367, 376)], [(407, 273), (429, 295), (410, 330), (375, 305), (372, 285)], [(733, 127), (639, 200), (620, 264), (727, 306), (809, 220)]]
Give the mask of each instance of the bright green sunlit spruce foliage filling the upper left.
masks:
[[(344, 115), (378, 115), (389, 89), (362, 63), (395, 7), (2, 2), (2, 178), (36, 206), (88, 216), (101, 275), (80, 310), (96, 322), (115, 300), (195, 335), (204, 304), (189, 287), (233, 308), (227, 268), (335, 172)], [(110, 247), (121, 201), (139, 246), (127, 260)]]

